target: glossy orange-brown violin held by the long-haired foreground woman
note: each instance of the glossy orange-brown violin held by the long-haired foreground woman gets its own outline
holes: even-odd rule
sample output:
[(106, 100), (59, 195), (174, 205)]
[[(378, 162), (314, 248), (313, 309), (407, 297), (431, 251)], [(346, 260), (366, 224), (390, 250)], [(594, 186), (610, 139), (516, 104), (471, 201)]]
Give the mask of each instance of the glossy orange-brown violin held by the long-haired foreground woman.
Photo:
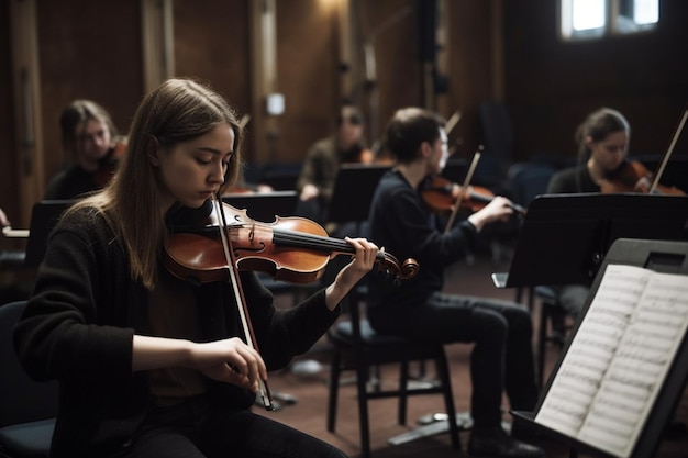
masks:
[[(273, 223), (264, 223), (222, 203), (226, 217), (228, 237), (240, 270), (262, 271), (276, 280), (292, 283), (310, 283), (322, 277), (328, 261), (340, 254), (356, 250), (345, 241), (328, 236), (318, 223), (300, 217), (276, 216)], [(219, 237), (220, 226), (215, 215), (206, 225), (182, 228), (168, 234), (165, 246), (165, 267), (180, 279), (200, 282), (226, 281), (228, 260)], [(376, 264), (385, 273), (407, 280), (418, 273), (418, 262), (407, 259), (400, 264), (386, 252), (378, 252)]]

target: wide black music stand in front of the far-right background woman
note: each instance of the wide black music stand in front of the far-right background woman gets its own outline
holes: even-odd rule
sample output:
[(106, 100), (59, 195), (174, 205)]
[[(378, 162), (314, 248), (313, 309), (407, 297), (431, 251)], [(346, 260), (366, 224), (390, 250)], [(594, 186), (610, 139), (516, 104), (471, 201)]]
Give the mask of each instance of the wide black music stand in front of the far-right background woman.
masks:
[(688, 239), (688, 197), (545, 194), (528, 208), (509, 272), (498, 288), (590, 284), (618, 238)]

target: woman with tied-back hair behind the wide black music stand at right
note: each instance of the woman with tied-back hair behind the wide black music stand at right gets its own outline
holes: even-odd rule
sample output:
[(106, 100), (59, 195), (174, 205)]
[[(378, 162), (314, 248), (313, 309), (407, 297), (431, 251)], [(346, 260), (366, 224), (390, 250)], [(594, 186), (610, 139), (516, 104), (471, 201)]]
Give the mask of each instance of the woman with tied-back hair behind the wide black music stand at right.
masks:
[[(547, 186), (548, 194), (602, 192), (629, 163), (626, 155), (631, 125), (618, 110), (600, 108), (577, 127), (578, 165), (556, 172)], [(567, 315), (578, 317), (588, 297), (586, 284), (553, 288)]]

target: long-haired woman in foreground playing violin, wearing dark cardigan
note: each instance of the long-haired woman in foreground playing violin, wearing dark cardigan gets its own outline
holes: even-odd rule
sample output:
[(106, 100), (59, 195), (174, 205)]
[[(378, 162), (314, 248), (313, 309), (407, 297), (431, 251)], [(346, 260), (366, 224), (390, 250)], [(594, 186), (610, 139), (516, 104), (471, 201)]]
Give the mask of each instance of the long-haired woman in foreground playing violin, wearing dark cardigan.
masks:
[(60, 383), (51, 456), (344, 456), (251, 406), (267, 372), (334, 322), (378, 248), (346, 239), (353, 260), (289, 310), (274, 305), (255, 272), (238, 272), (256, 346), (228, 282), (184, 281), (163, 264), (169, 226), (206, 220), (209, 199), (234, 185), (241, 139), (223, 98), (167, 80), (136, 111), (110, 185), (53, 232), (14, 332), (27, 373)]

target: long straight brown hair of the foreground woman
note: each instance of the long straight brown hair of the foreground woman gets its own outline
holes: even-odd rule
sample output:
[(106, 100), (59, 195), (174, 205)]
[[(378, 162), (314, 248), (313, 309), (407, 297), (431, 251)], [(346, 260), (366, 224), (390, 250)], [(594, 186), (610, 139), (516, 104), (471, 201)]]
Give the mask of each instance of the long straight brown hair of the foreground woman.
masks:
[(234, 154), (220, 192), (233, 186), (242, 167), (242, 129), (234, 109), (209, 86), (173, 78), (149, 92), (132, 121), (127, 150), (110, 185), (76, 206), (95, 206), (121, 238), (130, 259), (131, 276), (153, 289), (167, 232), (160, 200), (160, 178), (148, 160), (156, 146), (171, 148), (195, 139), (215, 125), (234, 131)]

